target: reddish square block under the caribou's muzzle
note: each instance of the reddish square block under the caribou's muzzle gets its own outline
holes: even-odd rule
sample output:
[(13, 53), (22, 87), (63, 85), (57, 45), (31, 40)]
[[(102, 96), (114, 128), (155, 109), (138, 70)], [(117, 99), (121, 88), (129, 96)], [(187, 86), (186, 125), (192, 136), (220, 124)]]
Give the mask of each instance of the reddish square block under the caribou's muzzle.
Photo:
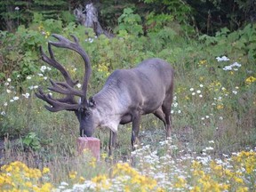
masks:
[(79, 155), (83, 154), (84, 149), (92, 152), (98, 161), (100, 161), (100, 140), (93, 137), (79, 137), (77, 138), (77, 152)]

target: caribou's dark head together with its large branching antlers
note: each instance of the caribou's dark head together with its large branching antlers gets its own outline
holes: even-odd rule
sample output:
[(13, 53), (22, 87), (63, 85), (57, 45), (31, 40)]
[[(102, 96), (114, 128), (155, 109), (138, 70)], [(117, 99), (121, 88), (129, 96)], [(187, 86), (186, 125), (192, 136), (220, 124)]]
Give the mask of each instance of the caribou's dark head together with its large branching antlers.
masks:
[[(94, 120), (95, 118), (93, 117), (95, 101), (92, 99), (86, 99), (87, 86), (92, 73), (90, 59), (86, 52), (84, 52), (84, 49), (78, 43), (78, 39), (76, 38), (76, 36), (72, 36), (74, 38), (74, 42), (71, 42), (67, 38), (60, 35), (55, 34), (52, 36), (54, 36), (59, 41), (50, 41), (48, 43), (48, 51), (50, 57), (48, 57), (44, 53), (42, 47), (40, 47), (42, 60), (51, 65), (53, 68), (57, 68), (58, 70), (60, 70), (60, 73), (64, 76), (66, 82), (54, 82), (51, 79), (50, 82), (52, 84), (52, 87), (48, 87), (48, 90), (52, 92), (59, 92), (66, 96), (64, 98), (54, 99), (50, 94), (44, 94), (42, 88), (39, 88), (38, 92), (36, 92), (36, 97), (46, 101), (50, 106), (46, 105), (44, 107), (51, 112), (58, 112), (60, 110), (74, 111), (80, 124), (80, 136), (85, 135), (91, 137), (96, 127), (96, 122)], [(82, 56), (84, 60), (85, 71), (84, 82), (81, 90), (76, 90), (74, 88), (74, 86), (78, 84), (78, 81), (73, 81), (68, 71), (62, 65), (60, 65), (58, 61), (55, 60), (54, 54), (52, 52), (52, 45), (60, 48), (67, 48), (73, 50)], [(79, 101), (75, 100), (75, 96), (79, 97)]]

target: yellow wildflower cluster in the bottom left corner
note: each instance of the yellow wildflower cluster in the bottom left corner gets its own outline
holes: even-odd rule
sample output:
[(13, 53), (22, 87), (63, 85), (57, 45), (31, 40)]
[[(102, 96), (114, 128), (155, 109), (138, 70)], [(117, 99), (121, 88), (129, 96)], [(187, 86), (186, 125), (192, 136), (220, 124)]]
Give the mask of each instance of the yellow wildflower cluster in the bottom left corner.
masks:
[(52, 184), (44, 182), (49, 172), (47, 167), (41, 172), (19, 161), (5, 164), (1, 167), (0, 188), (2, 191), (50, 191)]

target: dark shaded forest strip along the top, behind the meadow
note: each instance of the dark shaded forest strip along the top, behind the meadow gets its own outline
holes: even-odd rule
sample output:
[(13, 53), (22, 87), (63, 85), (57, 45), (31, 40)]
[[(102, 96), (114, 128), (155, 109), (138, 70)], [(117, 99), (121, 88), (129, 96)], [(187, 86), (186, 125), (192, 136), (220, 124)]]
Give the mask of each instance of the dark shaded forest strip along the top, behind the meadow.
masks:
[[(112, 30), (118, 24), (118, 18), (124, 8), (132, 8), (141, 17), (144, 32), (153, 28), (148, 24), (152, 15), (172, 15), (173, 19), (192, 27), (196, 32), (213, 35), (220, 28), (234, 31), (256, 20), (255, 0), (1, 0), (0, 30), (15, 31), (20, 24), (28, 25), (40, 16), (40, 19), (74, 21), (73, 11), (85, 4), (93, 3), (99, 11), (100, 24)], [(191, 29), (192, 30), (192, 29)]]

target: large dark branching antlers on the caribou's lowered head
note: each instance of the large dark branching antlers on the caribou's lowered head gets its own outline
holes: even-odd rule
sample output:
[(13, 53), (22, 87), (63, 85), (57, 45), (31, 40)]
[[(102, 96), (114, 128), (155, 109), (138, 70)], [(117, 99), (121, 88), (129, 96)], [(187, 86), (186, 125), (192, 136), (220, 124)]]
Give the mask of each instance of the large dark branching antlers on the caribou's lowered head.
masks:
[[(71, 42), (67, 38), (60, 35), (54, 34), (52, 36), (57, 38), (59, 42), (50, 41), (48, 43), (48, 51), (50, 54), (50, 58), (44, 53), (42, 47), (40, 47), (42, 60), (44, 60), (44, 62), (48, 63), (49, 65), (51, 65), (53, 68), (57, 68), (58, 70), (60, 70), (66, 82), (54, 82), (52, 81), (52, 79), (50, 79), (52, 87), (48, 87), (48, 89), (51, 90), (52, 92), (59, 92), (61, 94), (66, 94), (66, 97), (62, 99), (53, 99), (50, 94), (45, 95), (42, 89), (39, 89), (39, 91), (36, 92), (36, 96), (39, 99), (49, 103), (51, 107), (45, 106), (45, 108), (47, 108), (52, 112), (56, 112), (60, 110), (77, 110), (78, 108), (81, 107), (81, 105), (83, 107), (86, 107), (88, 106), (88, 102), (86, 99), (87, 86), (88, 86), (89, 78), (92, 73), (90, 59), (86, 54), (86, 52), (84, 52), (84, 50), (78, 43), (78, 39), (76, 38), (76, 36), (72, 36), (75, 42)], [(65, 68), (63, 68), (63, 66), (61, 66), (58, 61), (55, 60), (51, 45), (73, 50), (75, 52), (78, 52), (82, 56), (84, 60), (84, 65), (85, 65), (85, 72), (84, 72), (84, 83), (81, 91), (76, 90), (74, 88), (74, 86), (78, 83), (78, 81), (74, 82), (71, 79), (70, 75), (68, 74), (68, 71)], [(75, 95), (81, 97), (81, 104), (77, 104), (75, 100)]]

